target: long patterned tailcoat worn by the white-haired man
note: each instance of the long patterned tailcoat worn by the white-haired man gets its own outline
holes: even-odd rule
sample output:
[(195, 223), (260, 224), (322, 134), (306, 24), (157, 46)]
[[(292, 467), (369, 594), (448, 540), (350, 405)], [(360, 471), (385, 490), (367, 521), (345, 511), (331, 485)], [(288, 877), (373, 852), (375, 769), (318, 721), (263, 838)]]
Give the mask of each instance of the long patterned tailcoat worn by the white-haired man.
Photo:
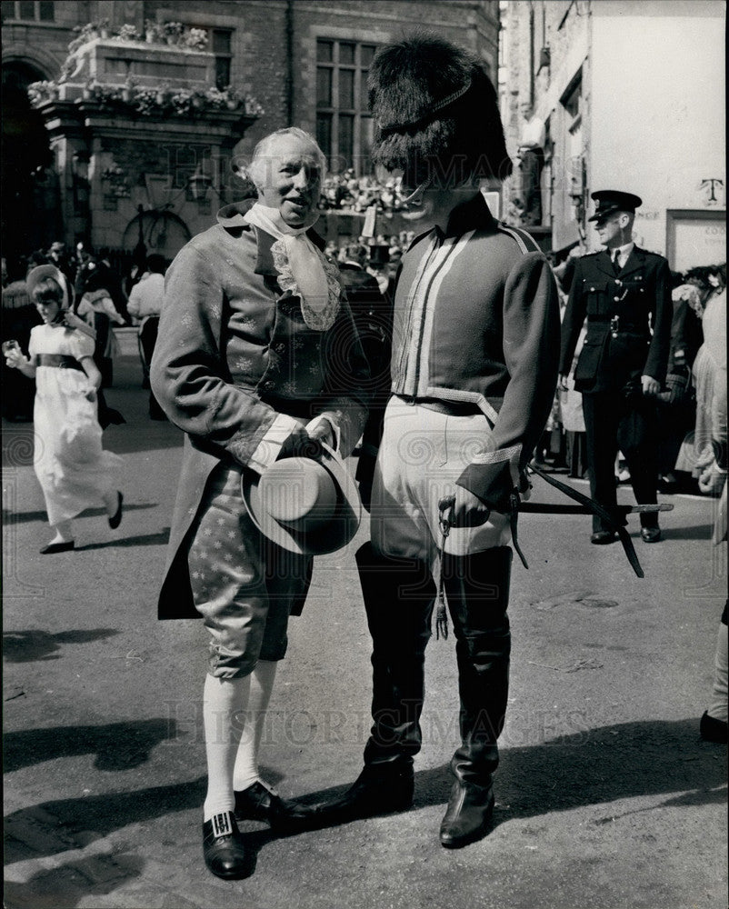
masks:
[[(330, 417), (341, 430), (343, 456), (365, 425), (369, 369), (345, 296), (331, 328), (305, 325), (300, 298), (281, 286), (288, 282), (275, 266), (275, 238), (243, 219), (252, 204), (225, 206), (165, 278), (150, 379), (165, 413), (185, 432), (185, 448), (162, 619), (199, 617), (184, 544), (217, 464), (249, 464), (281, 413)], [(314, 231), (307, 236), (323, 247)], [(330, 284), (337, 280), (334, 263), (326, 272)]]

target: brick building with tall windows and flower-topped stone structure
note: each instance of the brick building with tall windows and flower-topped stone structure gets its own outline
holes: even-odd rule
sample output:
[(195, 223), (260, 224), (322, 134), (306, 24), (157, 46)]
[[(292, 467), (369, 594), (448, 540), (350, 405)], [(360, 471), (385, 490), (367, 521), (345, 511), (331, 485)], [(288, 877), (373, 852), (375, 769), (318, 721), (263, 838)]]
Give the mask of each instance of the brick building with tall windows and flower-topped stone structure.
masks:
[[(13, 134), (3, 240), (16, 253), (61, 238), (174, 255), (240, 193), (237, 171), (258, 139), (286, 125), (316, 135), (334, 172), (366, 174), (367, 66), (378, 45), (415, 26), (469, 47), (494, 80), (498, 66), (497, 0), (4, 0), (0, 9)], [(174, 23), (185, 35), (203, 30), (205, 48), (179, 35), (165, 46)], [(84, 38), (69, 62), (69, 42)], [(55, 85), (32, 110), (24, 93), (35, 82)], [(202, 103), (182, 105), (183, 83)], [(233, 93), (237, 105), (226, 105)]]

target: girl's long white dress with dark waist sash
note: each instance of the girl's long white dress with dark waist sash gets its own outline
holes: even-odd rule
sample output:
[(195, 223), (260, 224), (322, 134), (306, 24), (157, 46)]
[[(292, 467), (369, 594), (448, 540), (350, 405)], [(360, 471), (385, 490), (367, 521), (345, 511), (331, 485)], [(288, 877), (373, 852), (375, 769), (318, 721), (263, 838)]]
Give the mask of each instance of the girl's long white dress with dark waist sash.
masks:
[(35, 372), (35, 474), (43, 489), (48, 522), (70, 520), (86, 508), (102, 504), (104, 494), (117, 487), (122, 464), (118, 454), (104, 451), (96, 403), (80, 369), (38, 365), (41, 354), (94, 355), (94, 341), (73, 328), (36, 325), (28, 353)]

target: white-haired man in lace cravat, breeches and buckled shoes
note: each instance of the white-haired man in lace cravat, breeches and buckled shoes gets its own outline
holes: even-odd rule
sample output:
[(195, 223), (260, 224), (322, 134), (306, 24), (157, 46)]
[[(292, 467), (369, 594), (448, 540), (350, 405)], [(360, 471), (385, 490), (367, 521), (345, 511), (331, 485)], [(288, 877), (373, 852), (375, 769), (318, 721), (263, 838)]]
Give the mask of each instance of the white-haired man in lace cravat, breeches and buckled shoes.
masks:
[[(285, 825), (305, 816), (261, 780), (256, 754), (288, 616), (300, 611), (317, 551), (270, 539), (241, 484), (250, 495), (278, 470), (272, 514), (295, 517), (286, 509), (311, 482), (287, 494), (282, 459), (299, 468), (314, 459), (329, 473), (332, 449), (349, 454), (365, 424), (365, 357), (336, 265), (311, 230), (324, 170), (314, 139), (295, 127), (256, 146), (257, 201), (223, 208), (170, 266), (152, 361), (155, 396), (186, 434), (160, 617), (203, 615), (210, 633), (204, 854), (226, 878), (249, 872), (236, 816)], [(341, 473), (336, 486), (341, 494)], [(266, 498), (259, 490), (259, 508)]]

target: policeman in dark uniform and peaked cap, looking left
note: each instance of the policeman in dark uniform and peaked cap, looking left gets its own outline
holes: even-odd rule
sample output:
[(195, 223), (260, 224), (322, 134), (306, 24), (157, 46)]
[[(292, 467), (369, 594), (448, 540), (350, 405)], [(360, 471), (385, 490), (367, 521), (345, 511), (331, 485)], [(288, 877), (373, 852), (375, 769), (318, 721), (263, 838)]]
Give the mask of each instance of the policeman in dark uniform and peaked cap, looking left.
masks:
[[(630, 470), (639, 504), (657, 501), (655, 395), (664, 384), (671, 344), (671, 272), (662, 255), (634, 245), (633, 222), (641, 199), (631, 193), (593, 193), (603, 252), (577, 260), (562, 325), (562, 385), (587, 318), (587, 335), (574, 369), (583, 393), (590, 488), (610, 510), (616, 504), (618, 448)], [(593, 517), (594, 544), (612, 543), (614, 530)], [(658, 514), (641, 514), (645, 543), (661, 539)]]

